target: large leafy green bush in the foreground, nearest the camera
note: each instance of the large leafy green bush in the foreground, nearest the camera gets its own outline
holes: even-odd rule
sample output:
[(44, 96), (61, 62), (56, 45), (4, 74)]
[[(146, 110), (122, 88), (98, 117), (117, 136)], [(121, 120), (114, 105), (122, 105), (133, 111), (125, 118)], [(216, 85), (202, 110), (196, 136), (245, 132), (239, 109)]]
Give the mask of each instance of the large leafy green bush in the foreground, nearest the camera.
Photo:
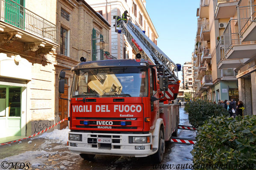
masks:
[(241, 116), (235, 119), (223, 116), (211, 117), (197, 131), (197, 143), (191, 151), (194, 164), (225, 165), (228, 163), (247, 166), (242, 169), (256, 169), (255, 115), (245, 116), (244, 119)]

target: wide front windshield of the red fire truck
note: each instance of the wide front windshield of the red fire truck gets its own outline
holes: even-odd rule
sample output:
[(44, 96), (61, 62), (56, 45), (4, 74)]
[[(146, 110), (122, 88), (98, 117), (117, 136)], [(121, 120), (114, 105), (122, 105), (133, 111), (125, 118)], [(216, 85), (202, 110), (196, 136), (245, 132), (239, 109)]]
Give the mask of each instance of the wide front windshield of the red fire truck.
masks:
[(147, 68), (122, 67), (77, 70), (72, 97), (146, 97)]

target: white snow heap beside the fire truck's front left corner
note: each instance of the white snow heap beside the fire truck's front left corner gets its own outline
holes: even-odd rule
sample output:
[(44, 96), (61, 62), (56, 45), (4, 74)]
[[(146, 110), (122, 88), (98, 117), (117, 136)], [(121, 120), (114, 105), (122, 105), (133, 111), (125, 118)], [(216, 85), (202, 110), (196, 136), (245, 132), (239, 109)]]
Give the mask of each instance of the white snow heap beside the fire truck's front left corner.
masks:
[(42, 135), (40, 135), (37, 138), (45, 138), (45, 139), (51, 139), (57, 141), (58, 144), (67, 144), (68, 142), (68, 132), (70, 130), (68, 129), (68, 126), (66, 129), (58, 130), (54, 129), (52, 132), (44, 132)]

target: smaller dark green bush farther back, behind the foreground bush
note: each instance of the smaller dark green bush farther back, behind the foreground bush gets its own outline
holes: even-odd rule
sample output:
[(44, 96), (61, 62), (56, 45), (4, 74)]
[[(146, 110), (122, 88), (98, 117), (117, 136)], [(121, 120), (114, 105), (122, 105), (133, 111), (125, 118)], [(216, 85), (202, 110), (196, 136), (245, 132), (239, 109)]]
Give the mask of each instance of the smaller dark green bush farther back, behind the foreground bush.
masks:
[(227, 109), (205, 100), (186, 103), (185, 111), (188, 112), (189, 123), (194, 127), (202, 126), (212, 116), (229, 116)]

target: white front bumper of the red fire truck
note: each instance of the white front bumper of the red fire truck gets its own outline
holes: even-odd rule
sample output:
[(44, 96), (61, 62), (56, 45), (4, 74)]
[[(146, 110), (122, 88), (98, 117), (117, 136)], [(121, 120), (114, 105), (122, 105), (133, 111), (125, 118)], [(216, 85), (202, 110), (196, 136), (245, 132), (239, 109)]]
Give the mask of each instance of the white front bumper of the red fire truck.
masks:
[[(68, 149), (74, 153), (100, 154), (100, 155), (122, 155), (145, 157), (152, 155), (157, 151), (152, 150), (152, 134), (113, 134), (113, 133), (82, 133), (69, 132), (82, 136), (80, 141), (68, 141)], [(147, 144), (131, 144), (129, 136), (150, 136), (150, 143)], [(98, 143), (97, 138), (110, 138), (111, 144)], [(137, 147), (137, 149), (135, 149)], [(138, 149), (142, 147), (144, 149)]]

